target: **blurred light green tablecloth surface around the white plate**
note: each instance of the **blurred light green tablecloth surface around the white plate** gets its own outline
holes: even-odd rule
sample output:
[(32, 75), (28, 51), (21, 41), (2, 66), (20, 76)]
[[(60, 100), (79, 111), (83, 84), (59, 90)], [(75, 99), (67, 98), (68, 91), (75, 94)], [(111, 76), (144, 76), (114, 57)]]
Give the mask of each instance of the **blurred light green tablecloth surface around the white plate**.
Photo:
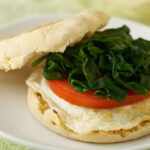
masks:
[[(0, 25), (27, 17), (96, 8), (150, 25), (150, 0), (0, 0)], [(0, 150), (31, 150), (0, 138)]]

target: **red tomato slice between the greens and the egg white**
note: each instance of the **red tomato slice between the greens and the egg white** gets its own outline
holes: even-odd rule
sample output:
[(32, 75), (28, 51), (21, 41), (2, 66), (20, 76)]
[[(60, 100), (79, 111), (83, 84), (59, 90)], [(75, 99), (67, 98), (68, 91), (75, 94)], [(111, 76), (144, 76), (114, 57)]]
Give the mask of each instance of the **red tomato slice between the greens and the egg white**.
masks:
[(85, 93), (79, 93), (73, 89), (71, 84), (67, 81), (61, 80), (47, 80), (51, 90), (60, 98), (64, 99), (71, 104), (90, 107), (90, 108), (114, 108), (124, 105), (137, 103), (150, 96), (150, 92), (147, 96), (136, 95), (135, 93), (128, 91), (129, 96), (123, 103), (117, 103), (113, 99), (108, 101), (106, 98), (97, 98), (94, 96), (94, 91)]

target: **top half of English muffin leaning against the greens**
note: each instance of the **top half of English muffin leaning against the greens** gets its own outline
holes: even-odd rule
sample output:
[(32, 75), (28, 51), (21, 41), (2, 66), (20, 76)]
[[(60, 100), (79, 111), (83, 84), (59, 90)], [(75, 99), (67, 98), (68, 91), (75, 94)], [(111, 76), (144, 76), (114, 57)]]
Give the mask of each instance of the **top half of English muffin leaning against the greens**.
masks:
[(64, 52), (85, 36), (104, 27), (109, 16), (98, 10), (86, 10), (69, 18), (51, 22), (0, 41), (0, 69), (23, 67), (30, 59), (49, 52)]

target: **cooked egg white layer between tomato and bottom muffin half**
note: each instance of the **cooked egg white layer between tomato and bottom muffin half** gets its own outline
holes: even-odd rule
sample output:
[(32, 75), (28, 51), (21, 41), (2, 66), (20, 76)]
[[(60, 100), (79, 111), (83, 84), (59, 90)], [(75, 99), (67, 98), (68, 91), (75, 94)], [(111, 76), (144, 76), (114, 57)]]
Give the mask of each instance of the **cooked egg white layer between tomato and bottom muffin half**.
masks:
[(50, 89), (41, 70), (32, 73), (26, 83), (40, 93), (49, 107), (57, 111), (64, 125), (76, 133), (130, 129), (150, 119), (150, 98), (113, 109), (92, 109), (59, 98)]

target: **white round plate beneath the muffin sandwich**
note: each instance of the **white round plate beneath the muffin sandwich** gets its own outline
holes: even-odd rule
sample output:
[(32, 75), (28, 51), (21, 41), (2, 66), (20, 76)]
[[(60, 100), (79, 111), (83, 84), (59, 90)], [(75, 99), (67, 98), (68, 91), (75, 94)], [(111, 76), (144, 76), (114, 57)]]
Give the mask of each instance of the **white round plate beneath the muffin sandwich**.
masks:
[[(68, 15), (53, 15), (18, 21), (0, 28), (0, 38), (23, 30), (61, 19)], [(150, 40), (150, 28), (131, 21), (113, 18), (107, 27), (126, 24), (132, 35)], [(33, 43), (34, 44), (34, 43)], [(150, 136), (117, 144), (90, 144), (59, 136), (39, 124), (32, 117), (26, 102), (25, 79), (27, 68), (4, 73), (0, 71), (0, 135), (23, 145), (48, 150), (137, 150), (150, 148)]]

